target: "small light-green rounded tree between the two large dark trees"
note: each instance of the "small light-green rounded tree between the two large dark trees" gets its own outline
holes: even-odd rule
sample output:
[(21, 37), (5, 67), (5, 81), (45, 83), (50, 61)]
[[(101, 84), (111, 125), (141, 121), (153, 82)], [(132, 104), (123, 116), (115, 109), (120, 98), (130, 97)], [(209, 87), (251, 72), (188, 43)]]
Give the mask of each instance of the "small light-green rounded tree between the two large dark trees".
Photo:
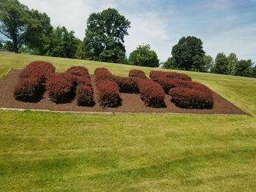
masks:
[(139, 45), (136, 50), (129, 55), (129, 62), (137, 66), (159, 66), (159, 59), (154, 50), (150, 50), (150, 45)]

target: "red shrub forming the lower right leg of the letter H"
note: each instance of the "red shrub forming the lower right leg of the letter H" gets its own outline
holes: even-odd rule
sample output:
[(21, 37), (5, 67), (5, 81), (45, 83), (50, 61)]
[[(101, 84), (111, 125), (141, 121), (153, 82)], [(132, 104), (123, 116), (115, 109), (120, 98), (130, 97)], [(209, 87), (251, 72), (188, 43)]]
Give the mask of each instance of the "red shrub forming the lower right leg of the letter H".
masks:
[(165, 91), (151, 80), (139, 80), (140, 99), (149, 107), (165, 107)]

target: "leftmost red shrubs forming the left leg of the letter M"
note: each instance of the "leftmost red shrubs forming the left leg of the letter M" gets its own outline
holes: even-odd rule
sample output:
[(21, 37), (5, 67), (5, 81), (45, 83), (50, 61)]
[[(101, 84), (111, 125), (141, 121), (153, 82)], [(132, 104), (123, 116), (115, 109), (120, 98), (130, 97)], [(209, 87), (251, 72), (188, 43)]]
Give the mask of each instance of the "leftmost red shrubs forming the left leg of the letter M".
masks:
[(15, 99), (38, 101), (45, 92), (45, 82), (55, 73), (55, 67), (45, 61), (31, 62), (20, 72), (14, 88)]

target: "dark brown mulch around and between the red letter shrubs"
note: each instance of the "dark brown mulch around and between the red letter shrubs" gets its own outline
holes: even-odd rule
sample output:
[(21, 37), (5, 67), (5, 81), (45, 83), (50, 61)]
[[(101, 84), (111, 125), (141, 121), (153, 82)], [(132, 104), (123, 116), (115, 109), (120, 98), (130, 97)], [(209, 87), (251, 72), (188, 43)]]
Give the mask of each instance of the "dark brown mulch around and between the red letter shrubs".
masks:
[[(94, 93), (96, 104), (94, 107), (78, 107), (75, 101), (68, 104), (55, 104), (50, 101), (46, 92), (42, 99), (37, 103), (16, 101), (13, 97), (13, 88), (18, 80), (20, 70), (12, 69), (3, 80), (0, 80), (0, 107), (16, 109), (35, 109), (35, 110), (54, 110), (54, 111), (75, 111), (75, 112), (177, 112), (195, 114), (241, 114), (246, 112), (227, 101), (219, 94), (214, 93), (214, 108), (211, 110), (187, 110), (176, 107), (170, 102), (170, 96), (165, 96), (165, 108), (146, 107), (140, 96), (136, 94), (121, 93), (122, 104), (117, 108), (102, 108), (97, 101), (97, 93)], [(93, 76), (91, 77), (94, 79)], [(94, 92), (96, 91), (93, 81)]]

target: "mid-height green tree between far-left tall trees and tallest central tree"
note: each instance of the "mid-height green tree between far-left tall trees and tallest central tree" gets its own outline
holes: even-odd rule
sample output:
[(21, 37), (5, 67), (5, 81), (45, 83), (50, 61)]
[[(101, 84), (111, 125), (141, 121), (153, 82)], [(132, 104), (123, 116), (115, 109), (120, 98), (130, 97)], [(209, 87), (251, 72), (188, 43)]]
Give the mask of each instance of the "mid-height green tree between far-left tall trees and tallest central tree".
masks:
[(67, 31), (65, 27), (53, 29), (48, 45), (49, 56), (61, 58), (75, 58), (80, 40), (74, 36), (74, 31)]

